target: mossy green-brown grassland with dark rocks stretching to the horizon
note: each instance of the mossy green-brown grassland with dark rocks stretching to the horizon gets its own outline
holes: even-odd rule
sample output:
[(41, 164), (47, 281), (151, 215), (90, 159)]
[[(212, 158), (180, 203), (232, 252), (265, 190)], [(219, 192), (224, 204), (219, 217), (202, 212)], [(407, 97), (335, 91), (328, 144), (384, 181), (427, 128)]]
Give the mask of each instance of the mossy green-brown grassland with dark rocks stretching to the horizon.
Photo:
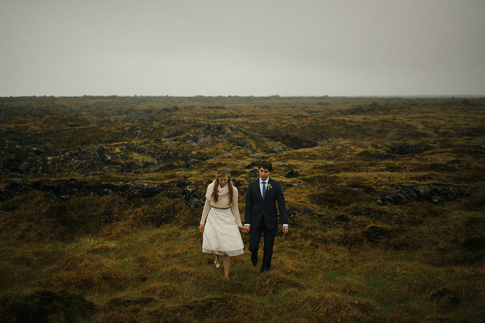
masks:
[[(484, 98), (0, 98), (0, 120), (0, 322), (485, 321)], [(191, 201), (227, 167), (243, 213), (261, 159), (290, 234), (263, 274), (243, 234), (227, 281)]]

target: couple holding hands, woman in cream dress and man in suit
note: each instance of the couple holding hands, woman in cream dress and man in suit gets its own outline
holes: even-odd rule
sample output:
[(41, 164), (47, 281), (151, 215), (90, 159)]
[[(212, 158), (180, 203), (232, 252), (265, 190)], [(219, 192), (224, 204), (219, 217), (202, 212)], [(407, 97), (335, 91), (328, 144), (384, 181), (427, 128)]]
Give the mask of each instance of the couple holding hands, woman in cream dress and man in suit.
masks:
[[(249, 232), (249, 251), (254, 266), (258, 264), (258, 250), (261, 236), (264, 237), (261, 271), (270, 270), (274, 237), (278, 227), (278, 210), (283, 234), (288, 233), (285, 198), (281, 184), (270, 178), (273, 166), (263, 160), (258, 165), (259, 178), (249, 182), (246, 193), (245, 224), (240, 220), (238, 189), (231, 182), (227, 168), (217, 172), (215, 180), (207, 186), (206, 202), (200, 220), (203, 234), (202, 252), (215, 254), (215, 267), (224, 265), (224, 277), (229, 278), (231, 256), (244, 253), (241, 232)], [(276, 207), (277, 204), (277, 207)]]

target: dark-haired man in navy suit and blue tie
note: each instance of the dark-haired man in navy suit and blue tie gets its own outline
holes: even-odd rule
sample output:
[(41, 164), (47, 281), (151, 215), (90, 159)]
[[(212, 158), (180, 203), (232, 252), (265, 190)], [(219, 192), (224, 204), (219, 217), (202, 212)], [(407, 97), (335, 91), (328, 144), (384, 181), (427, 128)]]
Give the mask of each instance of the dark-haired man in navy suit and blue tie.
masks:
[(270, 270), (273, 255), (274, 237), (278, 227), (279, 217), (283, 225), (283, 234), (288, 234), (288, 218), (286, 216), (285, 198), (279, 182), (270, 178), (273, 170), (271, 161), (259, 163), (259, 178), (249, 182), (246, 194), (245, 231), (249, 231), (249, 251), (252, 252), (253, 265), (258, 264), (258, 249), (261, 236), (264, 236), (263, 261), (261, 271)]

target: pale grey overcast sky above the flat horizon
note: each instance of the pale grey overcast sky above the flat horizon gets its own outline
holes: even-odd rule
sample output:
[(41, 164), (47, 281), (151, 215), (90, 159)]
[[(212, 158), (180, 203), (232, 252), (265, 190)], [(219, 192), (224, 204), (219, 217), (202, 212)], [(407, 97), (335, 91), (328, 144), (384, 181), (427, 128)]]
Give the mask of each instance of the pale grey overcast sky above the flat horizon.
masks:
[(485, 95), (484, 0), (0, 0), (0, 96)]

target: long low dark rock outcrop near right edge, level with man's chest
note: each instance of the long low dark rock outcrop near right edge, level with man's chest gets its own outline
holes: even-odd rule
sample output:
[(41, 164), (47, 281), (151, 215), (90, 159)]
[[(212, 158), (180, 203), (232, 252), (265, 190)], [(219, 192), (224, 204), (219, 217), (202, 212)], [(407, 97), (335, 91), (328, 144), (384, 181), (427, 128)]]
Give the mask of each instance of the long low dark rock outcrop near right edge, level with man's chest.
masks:
[(416, 200), (426, 200), (433, 203), (453, 201), (472, 195), (473, 189), (454, 186), (429, 186), (420, 188), (409, 184), (391, 184), (395, 191), (376, 198), (376, 204), (381, 206), (406, 204)]

